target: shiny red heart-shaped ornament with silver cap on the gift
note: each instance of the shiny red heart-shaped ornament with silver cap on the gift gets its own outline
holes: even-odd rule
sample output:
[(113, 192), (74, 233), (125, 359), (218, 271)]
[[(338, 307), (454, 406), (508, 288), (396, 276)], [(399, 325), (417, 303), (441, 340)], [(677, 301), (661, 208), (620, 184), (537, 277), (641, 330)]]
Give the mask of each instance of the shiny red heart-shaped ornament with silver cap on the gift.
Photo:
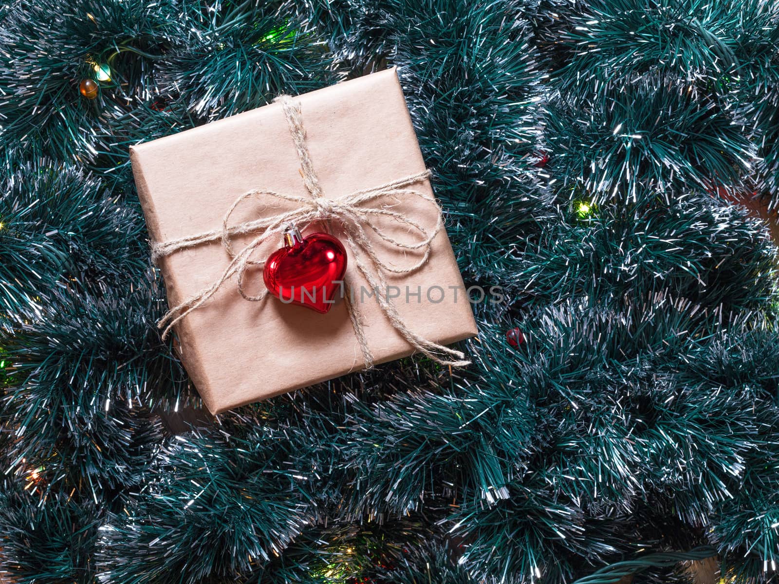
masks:
[(263, 280), (284, 304), (299, 304), (326, 314), (343, 287), (346, 250), (335, 237), (313, 233), (301, 237), (294, 227), (284, 232), (284, 247), (265, 263)]

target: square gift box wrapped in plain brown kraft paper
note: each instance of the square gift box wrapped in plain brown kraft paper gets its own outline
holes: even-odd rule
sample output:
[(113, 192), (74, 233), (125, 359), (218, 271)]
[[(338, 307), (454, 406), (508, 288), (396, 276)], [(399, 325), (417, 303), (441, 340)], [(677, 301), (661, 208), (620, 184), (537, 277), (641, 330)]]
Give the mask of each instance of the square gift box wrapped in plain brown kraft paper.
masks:
[[(291, 133), (293, 101), (301, 115), (298, 134)], [(177, 243), (173, 252), (160, 254), (157, 265), (171, 307), (213, 288), (234, 266), (236, 255), (255, 245), (263, 230), (273, 231), (241, 256), (248, 260), (241, 276), (244, 295), (238, 290), (238, 274), (228, 273), (174, 325), (182, 362), (212, 413), (359, 371), (368, 359), (379, 364), (407, 357), (425, 343), (446, 345), (477, 334), (446, 230), (435, 232), (440, 209), (432, 199), (395, 70), (293, 101), (130, 151), (153, 245), (231, 230), (230, 250), (221, 237), (212, 237), (194, 245)], [(310, 167), (301, 160), (296, 135), (305, 139)], [(312, 199), (308, 172), (318, 181), (318, 200), (332, 205), (306, 206), (305, 199)], [(384, 190), (371, 195), (379, 185)], [(360, 192), (364, 194), (355, 197)], [(227, 225), (225, 214), (236, 202)], [(261, 296), (260, 260), (283, 245), (280, 225), (269, 225), (267, 218), (294, 216), (301, 205), (308, 209), (298, 213), (305, 219), (297, 223), (304, 237), (326, 231), (348, 244), (347, 286), (326, 314), (277, 297), (245, 297)], [(325, 209), (324, 214), (319, 216), (317, 209)], [(355, 216), (372, 225), (359, 226)], [(252, 227), (252, 222), (261, 225)], [(425, 234), (435, 236), (414, 248)], [(404, 273), (414, 264), (417, 269)], [(386, 290), (377, 290), (377, 282)]]

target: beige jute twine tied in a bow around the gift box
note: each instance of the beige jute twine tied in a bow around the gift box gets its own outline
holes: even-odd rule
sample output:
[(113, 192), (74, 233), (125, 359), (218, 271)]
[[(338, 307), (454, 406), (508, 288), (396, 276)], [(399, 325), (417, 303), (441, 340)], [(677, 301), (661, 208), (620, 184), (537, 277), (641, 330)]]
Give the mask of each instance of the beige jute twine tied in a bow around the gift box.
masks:
[[(308, 146), (306, 146), (305, 143), (305, 128), (303, 127), (300, 104), (292, 100), (289, 96), (281, 96), (278, 97), (277, 100), (280, 100), (284, 110), (284, 117), (287, 119), (295, 150), (301, 161), (301, 177), (303, 178), (305, 188), (311, 194), (311, 197), (285, 195), (284, 193), (279, 192), (252, 189), (251, 191), (240, 195), (238, 199), (235, 199), (235, 202), (233, 202), (230, 209), (228, 209), (227, 213), (224, 215), (221, 229), (206, 231), (201, 234), (182, 237), (171, 241), (154, 243), (152, 245), (152, 257), (155, 261), (160, 257), (171, 255), (182, 249), (196, 247), (197, 245), (202, 245), (211, 241), (221, 241), (224, 250), (231, 258), (230, 264), (224, 269), (221, 276), (209, 287), (200, 290), (194, 296), (189, 297), (181, 304), (178, 304), (178, 306), (174, 306), (174, 308), (167, 311), (158, 323), (160, 329), (164, 329), (162, 332), (163, 338), (167, 337), (174, 325), (182, 320), (182, 318), (185, 318), (186, 315), (189, 315), (190, 312), (202, 306), (210, 297), (213, 297), (213, 295), (217, 293), (217, 290), (219, 290), (227, 280), (230, 280), (232, 276), (238, 276), (238, 292), (241, 294), (241, 297), (244, 297), (248, 301), (262, 301), (268, 294), (268, 290), (262, 290), (262, 292), (256, 296), (246, 294), (244, 289), (245, 274), (250, 267), (257, 268), (265, 265), (266, 259), (252, 259), (252, 255), (254, 255), (259, 246), (263, 245), (270, 237), (280, 235), (285, 230), (288, 223), (297, 223), (305, 226), (314, 221), (323, 221), (326, 224), (329, 224), (330, 221), (336, 221), (339, 227), (344, 231), (347, 246), (351, 249), (352, 258), (358, 270), (365, 276), (365, 280), (368, 280), (368, 284), (370, 284), (372, 290), (376, 290), (375, 298), (379, 302), (382, 313), (390, 321), (393, 327), (400, 332), (400, 335), (403, 336), (414, 349), (427, 355), (436, 363), (458, 367), (470, 364), (470, 361), (465, 360), (465, 356), (462, 352), (445, 347), (439, 343), (433, 343), (411, 331), (403, 321), (403, 318), (400, 317), (389, 294), (381, 294), (379, 291), (387, 290), (384, 273), (411, 273), (421, 268), (421, 266), (424, 266), (430, 258), (432, 241), (435, 236), (439, 234), (439, 231), (442, 230), (443, 222), (441, 213), (435, 199), (429, 195), (425, 195), (423, 192), (414, 190), (414, 188), (409, 188), (411, 185), (415, 185), (428, 178), (430, 176), (430, 171), (411, 174), (410, 176), (400, 178), (397, 181), (386, 183), (386, 185), (353, 192), (351, 195), (347, 195), (343, 199), (337, 201), (327, 199), (323, 196), (322, 188), (319, 186), (319, 179), (315, 174), (311, 157), (308, 153)], [(397, 211), (383, 207), (376, 208), (362, 206), (364, 203), (375, 202), (377, 199), (400, 197), (404, 195), (419, 197), (435, 206), (438, 221), (435, 228), (430, 233), (425, 230), (425, 227), (422, 227), (419, 223), (405, 216), (403, 213), (398, 213)], [(265, 196), (270, 197), (271, 199), (292, 202), (297, 205), (297, 208), (278, 213), (274, 216), (232, 225), (230, 223), (230, 218), (235, 209), (241, 202), (244, 202), (245, 199), (249, 199), (253, 196)], [(406, 241), (397, 241), (395, 238), (390, 237), (376, 225), (375, 219), (378, 219), (379, 217), (390, 218), (409, 227), (412, 231), (416, 232), (418, 236), (417, 241), (409, 243)], [(401, 268), (389, 266), (376, 255), (371, 240), (365, 232), (365, 227), (374, 231), (383, 241), (386, 241), (396, 248), (409, 251), (421, 250), (421, 259), (412, 266)], [(257, 232), (259, 232), (259, 234), (256, 235), (248, 245), (239, 252), (234, 252), (234, 237), (255, 234)], [(344, 294), (344, 302), (347, 305), (349, 318), (351, 319), (351, 324), (354, 328), (354, 334), (357, 337), (362, 356), (365, 360), (365, 368), (371, 368), (373, 366), (373, 355), (368, 347), (368, 341), (365, 339), (362, 318), (357, 307), (354, 306), (354, 303), (350, 300), (351, 293), (349, 293), (348, 290), (351, 289), (349, 288), (348, 283), (346, 283), (346, 286), (347, 294)]]

